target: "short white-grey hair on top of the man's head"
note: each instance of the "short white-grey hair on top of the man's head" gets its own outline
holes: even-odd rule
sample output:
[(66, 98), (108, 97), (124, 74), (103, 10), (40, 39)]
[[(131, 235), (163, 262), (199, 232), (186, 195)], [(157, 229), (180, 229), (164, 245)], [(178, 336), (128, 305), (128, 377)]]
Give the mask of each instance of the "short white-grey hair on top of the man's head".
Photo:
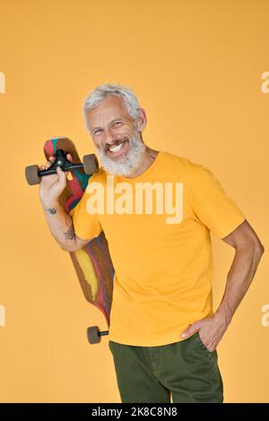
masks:
[(133, 90), (131, 90), (131, 88), (127, 86), (116, 85), (113, 83), (106, 83), (104, 85), (100, 85), (91, 91), (91, 94), (85, 99), (83, 108), (82, 108), (86, 129), (90, 133), (91, 133), (91, 129), (88, 124), (88, 119), (87, 119), (87, 114), (86, 114), (87, 110), (97, 107), (102, 100), (107, 99), (108, 97), (111, 97), (113, 95), (124, 100), (127, 112), (129, 116), (134, 118), (134, 121), (139, 116), (140, 104), (138, 102), (138, 99), (135, 97)]

